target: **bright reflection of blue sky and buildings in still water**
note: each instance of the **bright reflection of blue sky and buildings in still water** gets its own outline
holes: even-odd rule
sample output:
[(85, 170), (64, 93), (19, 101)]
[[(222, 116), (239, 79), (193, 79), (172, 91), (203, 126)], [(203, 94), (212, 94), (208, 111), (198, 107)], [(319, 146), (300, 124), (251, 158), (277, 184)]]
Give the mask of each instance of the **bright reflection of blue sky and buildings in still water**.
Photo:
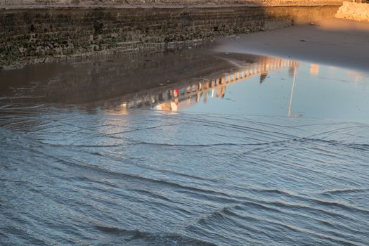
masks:
[[(173, 91), (179, 91), (179, 95)], [(153, 103), (147, 105), (171, 111), (369, 122), (369, 109), (365, 107), (369, 103), (368, 91), (368, 75), (363, 72), (261, 58), (257, 63), (240, 65), (234, 72), (220, 77), (157, 91), (158, 96), (151, 94)], [(134, 101), (130, 102), (132, 108)]]

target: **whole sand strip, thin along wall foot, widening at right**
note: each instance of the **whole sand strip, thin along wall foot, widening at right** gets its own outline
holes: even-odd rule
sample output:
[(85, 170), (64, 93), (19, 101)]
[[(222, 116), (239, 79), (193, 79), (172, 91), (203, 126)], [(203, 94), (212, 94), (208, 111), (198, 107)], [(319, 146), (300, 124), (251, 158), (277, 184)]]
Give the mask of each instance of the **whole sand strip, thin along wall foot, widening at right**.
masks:
[(298, 25), (252, 34), (233, 34), (228, 37), (216, 37), (210, 40), (179, 42), (178, 44), (172, 44), (175, 46), (172, 50), (162, 48), (157, 51), (135, 51), (132, 53), (119, 53), (119, 51), (107, 50), (76, 56), (50, 56), (23, 60), (22, 63), (2, 67), (0, 70), (16, 70), (21, 69), (25, 65), (39, 63), (75, 63), (78, 60), (89, 60), (104, 56), (124, 57), (134, 54), (149, 55), (150, 53), (164, 51), (176, 52), (203, 46), (216, 53), (271, 56), (367, 72), (369, 71), (369, 60), (365, 52), (362, 52), (369, 50), (369, 43), (365, 42), (365, 39), (369, 38), (369, 34), (365, 32), (369, 32), (369, 22), (326, 19), (313, 25)]

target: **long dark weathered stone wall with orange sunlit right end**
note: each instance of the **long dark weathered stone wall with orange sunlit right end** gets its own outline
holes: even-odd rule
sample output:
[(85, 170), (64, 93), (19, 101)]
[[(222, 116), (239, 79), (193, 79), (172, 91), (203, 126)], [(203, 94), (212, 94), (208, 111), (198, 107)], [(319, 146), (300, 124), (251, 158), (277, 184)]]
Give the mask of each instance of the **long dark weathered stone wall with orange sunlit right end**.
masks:
[(215, 37), (332, 17), (338, 6), (10, 8), (0, 10), (0, 67), (96, 53), (163, 51)]

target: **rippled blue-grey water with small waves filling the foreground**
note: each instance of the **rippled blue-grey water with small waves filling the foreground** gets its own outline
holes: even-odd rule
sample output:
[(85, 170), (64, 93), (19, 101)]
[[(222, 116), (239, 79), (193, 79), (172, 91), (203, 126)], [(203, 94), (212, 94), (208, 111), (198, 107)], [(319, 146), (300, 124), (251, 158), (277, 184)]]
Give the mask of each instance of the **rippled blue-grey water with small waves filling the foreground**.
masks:
[(367, 244), (368, 126), (270, 119), (4, 114), (0, 242)]

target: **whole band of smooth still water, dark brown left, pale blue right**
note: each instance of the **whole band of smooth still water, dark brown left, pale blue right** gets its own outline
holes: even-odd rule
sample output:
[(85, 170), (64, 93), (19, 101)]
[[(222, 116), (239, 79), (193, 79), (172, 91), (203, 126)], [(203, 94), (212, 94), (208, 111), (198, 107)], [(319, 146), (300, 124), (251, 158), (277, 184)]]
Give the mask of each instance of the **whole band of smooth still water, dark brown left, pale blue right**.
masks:
[(201, 48), (37, 65), (0, 71), (0, 77), (0, 105), (8, 110), (56, 103), (89, 112), (154, 108), (369, 122), (369, 110), (361, 106), (369, 103), (363, 72)]

